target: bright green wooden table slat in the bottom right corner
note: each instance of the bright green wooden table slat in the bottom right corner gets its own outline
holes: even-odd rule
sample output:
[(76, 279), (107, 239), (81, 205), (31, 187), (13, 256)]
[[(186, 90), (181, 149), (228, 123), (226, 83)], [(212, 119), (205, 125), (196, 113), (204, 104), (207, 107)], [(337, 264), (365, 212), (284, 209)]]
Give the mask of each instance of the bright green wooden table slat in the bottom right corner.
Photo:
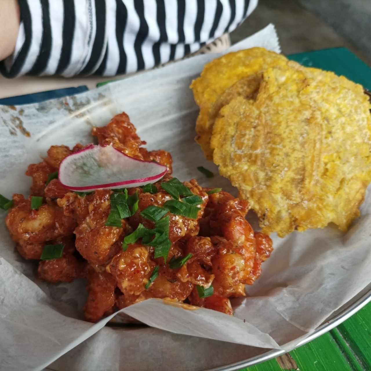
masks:
[(371, 370), (371, 303), (368, 303), (336, 329), (352, 349), (363, 368)]

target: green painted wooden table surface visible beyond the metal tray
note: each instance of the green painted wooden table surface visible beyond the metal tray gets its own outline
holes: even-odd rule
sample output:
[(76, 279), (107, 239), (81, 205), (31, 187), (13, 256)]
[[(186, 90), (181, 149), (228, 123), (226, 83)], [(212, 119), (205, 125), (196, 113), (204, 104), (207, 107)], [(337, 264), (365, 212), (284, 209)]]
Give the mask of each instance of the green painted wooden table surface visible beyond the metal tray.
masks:
[[(348, 49), (339, 47), (288, 56), (304, 66), (344, 75), (371, 90), (371, 68)], [(105, 85), (111, 81), (99, 83)], [(240, 371), (353, 371), (371, 370), (371, 303), (341, 325), (308, 344)]]

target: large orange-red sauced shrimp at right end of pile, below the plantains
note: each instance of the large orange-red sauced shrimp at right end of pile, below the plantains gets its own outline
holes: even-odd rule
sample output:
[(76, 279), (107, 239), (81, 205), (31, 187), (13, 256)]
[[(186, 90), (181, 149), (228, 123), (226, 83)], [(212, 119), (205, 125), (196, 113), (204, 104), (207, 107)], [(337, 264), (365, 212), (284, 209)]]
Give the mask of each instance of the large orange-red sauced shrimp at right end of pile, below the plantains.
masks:
[[(234, 198), (221, 191), (211, 194), (206, 206), (201, 233), (211, 235), (216, 254), (211, 259), (214, 293), (223, 297), (244, 296), (244, 284), (252, 284), (259, 277), (262, 256), (269, 256), (272, 242), (266, 235), (255, 234), (244, 219), (249, 210), (246, 200)], [(269, 240), (267, 240), (267, 238)]]

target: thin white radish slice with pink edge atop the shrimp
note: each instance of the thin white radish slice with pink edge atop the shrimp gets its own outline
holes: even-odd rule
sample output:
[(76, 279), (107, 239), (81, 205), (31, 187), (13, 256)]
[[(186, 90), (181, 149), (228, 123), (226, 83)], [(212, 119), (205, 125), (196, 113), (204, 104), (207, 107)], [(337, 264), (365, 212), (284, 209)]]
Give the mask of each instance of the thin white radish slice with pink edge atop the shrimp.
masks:
[(67, 156), (59, 167), (59, 181), (72, 191), (98, 188), (139, 187), (160, 180), (167, 172), (164, 165), (129, 157), (112, 145), (89, 145)]

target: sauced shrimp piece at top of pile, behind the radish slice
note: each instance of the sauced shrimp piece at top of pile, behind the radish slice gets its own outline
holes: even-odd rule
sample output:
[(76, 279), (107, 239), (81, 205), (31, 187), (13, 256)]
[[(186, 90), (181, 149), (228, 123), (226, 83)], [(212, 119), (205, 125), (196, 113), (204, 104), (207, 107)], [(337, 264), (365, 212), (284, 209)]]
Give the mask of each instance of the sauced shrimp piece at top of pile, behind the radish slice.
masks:
[(106, 126), (93, 128), (92, 135), (95, 135), (98, 138), (98, 143), (103, 146), (113, 145), (116, 150), (130, 157), (155, 161), (165, 165), (169, 174), (173, 171), (171, 167), (173, 158), (169, 152), (164, 150), (147, 151), (141, 147), (146, 142), (138, 137), (137, 129), (130, 122), (129, 116), (125, 112), (114, 116)]

